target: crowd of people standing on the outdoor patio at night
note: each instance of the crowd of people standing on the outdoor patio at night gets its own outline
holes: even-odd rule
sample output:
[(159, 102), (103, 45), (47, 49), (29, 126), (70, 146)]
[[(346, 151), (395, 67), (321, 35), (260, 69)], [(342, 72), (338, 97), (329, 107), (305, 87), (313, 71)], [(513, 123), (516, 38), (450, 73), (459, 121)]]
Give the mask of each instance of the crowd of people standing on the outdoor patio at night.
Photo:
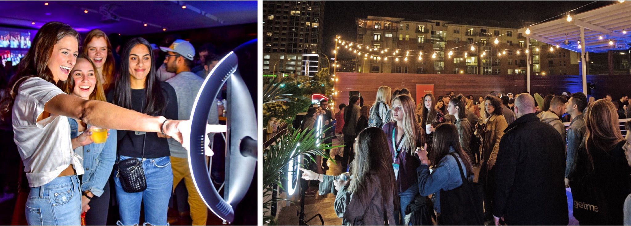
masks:
[(566, 188), (581, 225), (631, 225), (628, 101), (451, 92), (416, 105), (408, 89), (381, 86), (372, 106), (351, 96), (337, 113), (309, 108), (304, 129), (334, 116), (345, 173), (326, 175), (323, 163), (302, 178), (336, 195), (345, 225), (567, 225)]

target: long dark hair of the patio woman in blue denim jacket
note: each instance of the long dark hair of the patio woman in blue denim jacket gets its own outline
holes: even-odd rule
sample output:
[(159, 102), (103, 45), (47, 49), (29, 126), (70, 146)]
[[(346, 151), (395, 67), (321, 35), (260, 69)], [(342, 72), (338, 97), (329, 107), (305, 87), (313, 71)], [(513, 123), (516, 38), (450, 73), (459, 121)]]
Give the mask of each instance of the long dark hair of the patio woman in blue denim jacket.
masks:
[[(467, 155), (460, 146), (460, 138), (456, 125), (451, 123), (438, 125), (434, 132), (432, 152), (430, 152), (429, 156), (430, 161), (432, 161), (433, 169), (436, 169), (440, 161), (445, 158), (445, 155), (449, 154), (449, 147), (453, 147), (458, 155), (460, 155), (460, 159), (463, 161), (464, 168), (467, 171), (466, 178), (473, 175), (471, 159), (469, 159), (469, 155)], [(460, 163), (458, 162), (458, 164)]]

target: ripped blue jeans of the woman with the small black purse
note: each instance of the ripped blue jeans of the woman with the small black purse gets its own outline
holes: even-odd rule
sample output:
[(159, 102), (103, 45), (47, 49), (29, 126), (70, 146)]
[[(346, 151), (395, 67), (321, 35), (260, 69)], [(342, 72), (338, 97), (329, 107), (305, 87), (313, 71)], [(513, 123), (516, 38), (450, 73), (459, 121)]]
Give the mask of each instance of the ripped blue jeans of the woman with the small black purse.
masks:
[[(121, 155), (121, 161), (131, 157)], [(142, 160), (141, 158), (137, 158)], [(119, 203), (121, 220), (117, 225), (138, 225), (140, 203), (144, 203), (144, 223), (151, 225), (168, 225), (168, 200), (173, 187), (173, 172), (168, 156), (155, 159), (144, 159), (143, 170), (147, 189), (136, 193), (127, 193), (121, 187), (121, 180), (114, 169), (116, 184), (116, 200)]]

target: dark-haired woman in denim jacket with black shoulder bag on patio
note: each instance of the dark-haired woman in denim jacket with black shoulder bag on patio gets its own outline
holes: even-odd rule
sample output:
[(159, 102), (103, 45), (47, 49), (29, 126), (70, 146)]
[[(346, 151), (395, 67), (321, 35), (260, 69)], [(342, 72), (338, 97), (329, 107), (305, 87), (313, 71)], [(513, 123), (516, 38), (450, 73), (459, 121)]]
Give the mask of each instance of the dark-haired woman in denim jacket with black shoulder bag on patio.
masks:
[[(471, 208), (475, 206), (463, 206), (461, 202), (454, 202), (461, 198), (458, 192), (467, 192), (457, 190), (463, 184), (463, 178), (473, 181), (473, 167), (469, 156), (461, 147), (459, 136), (455, 125), (440, 124), (436, 127), (434, 149), (429, 157), (423, 147), (415, 151), (421, 161), (421, 166), (418, 167), (418, 190), (422, 196), (435, 194), (434, 210), (440, 213), (439, 225), (469, 225), (476, 220), (481, 222), (481, 216), (478, 216), (480, 219), (474, 219), (475, 216), (466, 215), (472, 213)], [(430, 166), (433, 168), (431, 173)]]

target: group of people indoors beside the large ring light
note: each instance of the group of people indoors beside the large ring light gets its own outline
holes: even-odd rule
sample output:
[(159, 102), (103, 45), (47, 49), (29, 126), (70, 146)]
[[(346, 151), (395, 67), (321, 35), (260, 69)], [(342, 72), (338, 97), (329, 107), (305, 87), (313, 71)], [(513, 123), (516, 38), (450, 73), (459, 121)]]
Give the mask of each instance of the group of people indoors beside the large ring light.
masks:
[[(184, 180), (192, 224), (206, 225), (182, 142), (193, 101), (218, 62), (214, 48), (196, 53), (180, 39), (158, 48), (110, 37), (95, 29), (81, 39), (71, 26), (49, 22), (18, 67), (0, 72), (1, 128), (15, 140), (30, 188), (15, 211), (28, 225), (81, 225), (83, 213), (85, 225), (107, 225), (115, 200), (118, 225), (168, 225), (170, 196)], [(217, 125), (223, 110), (215, 104), (210, 112), (207, 144), (226, 130)], [(130, 178), (122, 162), (142, 175)]]

